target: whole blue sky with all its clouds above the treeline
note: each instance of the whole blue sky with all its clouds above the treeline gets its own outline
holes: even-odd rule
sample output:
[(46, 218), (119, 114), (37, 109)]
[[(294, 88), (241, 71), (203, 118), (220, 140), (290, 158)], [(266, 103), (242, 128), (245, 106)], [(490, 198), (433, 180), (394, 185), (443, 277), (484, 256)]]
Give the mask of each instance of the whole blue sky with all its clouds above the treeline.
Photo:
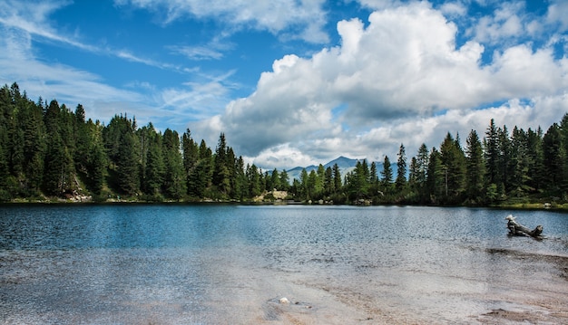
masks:
[(568, 112), (568, 0), (0, 0), (0, 84), (264, 170)]

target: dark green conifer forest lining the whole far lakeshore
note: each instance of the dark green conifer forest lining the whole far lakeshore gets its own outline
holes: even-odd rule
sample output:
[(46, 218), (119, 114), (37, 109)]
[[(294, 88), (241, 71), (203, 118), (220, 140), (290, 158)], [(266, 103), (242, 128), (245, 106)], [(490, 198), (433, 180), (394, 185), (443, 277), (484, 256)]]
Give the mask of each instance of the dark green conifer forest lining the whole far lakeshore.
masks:
[(115, 115), (108, 124), (74, 110), (27, 98), (17, 83), (0, 90), (0, 202), (272, 202), (499, 206), (568, 200), (568, 113), (545, 132), (496, 126), (471, 130), (465, 147), (449, 132), (396, 161), (359, 160), (341, 175), (337, 165), (289, 179), (263, 171), (227, 145), (214, 150), (190, 129), (163, 132), (152, 123)]

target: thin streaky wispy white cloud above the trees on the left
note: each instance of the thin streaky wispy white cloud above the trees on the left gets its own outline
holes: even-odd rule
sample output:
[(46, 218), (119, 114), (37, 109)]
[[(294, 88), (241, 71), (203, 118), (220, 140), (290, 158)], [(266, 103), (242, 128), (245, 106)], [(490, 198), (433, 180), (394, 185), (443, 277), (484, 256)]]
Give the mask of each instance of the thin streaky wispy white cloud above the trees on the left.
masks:
[[(228, 91), (234, 85), (228, 79), (234, 71), (212, 75), (200, 72), (199, 68), (144, 58), (125, 49), (82, 43), (74, 35), (59, 32), (49, 19), (65, 5), (69, 3), (10, 0), (0, 3), (0, 32), (3, 35), (0, 38), (0, 83), (17, 81), (22, 89), (44, 96), (44, 99), (57, 99), (68, 105), (82, 103), (93, 119), (104, 121), (116, 113), (131, 112), (140, 123), (152, 120), (157, 127), (179, 129), (185, 129), (187, 119), (209, 117), (222, 110), (229, 101)], [(122, 85), (122, 89), (121, 85), (106, 83), (96, 73), (37, 58), (33, 40), (187, 74), (188, 78), (196, 81), (165, 89), (148, 81), (131, 81)]]

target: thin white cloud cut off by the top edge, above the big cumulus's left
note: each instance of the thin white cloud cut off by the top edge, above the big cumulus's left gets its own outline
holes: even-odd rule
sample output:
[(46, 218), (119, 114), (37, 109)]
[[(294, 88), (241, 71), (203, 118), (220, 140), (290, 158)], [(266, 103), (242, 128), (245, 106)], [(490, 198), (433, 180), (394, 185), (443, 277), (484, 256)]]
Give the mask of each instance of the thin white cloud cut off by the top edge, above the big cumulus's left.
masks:
[(164, 24), (185, 16), (216, 19), (230, 28), (254, 28), (310, 43), (326, 43), (323, 0), (115, 0), (162, 13)]

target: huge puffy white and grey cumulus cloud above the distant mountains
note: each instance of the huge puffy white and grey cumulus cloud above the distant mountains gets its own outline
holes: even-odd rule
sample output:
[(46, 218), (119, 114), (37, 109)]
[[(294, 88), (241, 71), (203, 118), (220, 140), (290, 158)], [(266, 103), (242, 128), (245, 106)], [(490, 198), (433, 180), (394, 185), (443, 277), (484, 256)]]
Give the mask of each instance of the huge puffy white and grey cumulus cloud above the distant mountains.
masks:
[[(222, 130), (237, 152), (280, 167), (288, 161), (278, 160), (276, 148), (297, 148), (319, 162), (337, 152), (393, 156), (400, 143), (413, 155), (424, 142), (437, 146), (447, 131), (464, 139), (470, 129), (483, 131), (492, 118), (523, 126), (562, 117), (565, 58), (554, 60), (548, 47), (515, 44), (487, 65), (484, 45), (470, 40), (456, 47), (457, 32), (427, 3), (388, 6), (370, 14), (367, 26), (341, 21), (339, 46), (276, 60), (254, 93), (192, 128), (211, 139)], [(541, 110), (552, 112), (530, 118)]]

